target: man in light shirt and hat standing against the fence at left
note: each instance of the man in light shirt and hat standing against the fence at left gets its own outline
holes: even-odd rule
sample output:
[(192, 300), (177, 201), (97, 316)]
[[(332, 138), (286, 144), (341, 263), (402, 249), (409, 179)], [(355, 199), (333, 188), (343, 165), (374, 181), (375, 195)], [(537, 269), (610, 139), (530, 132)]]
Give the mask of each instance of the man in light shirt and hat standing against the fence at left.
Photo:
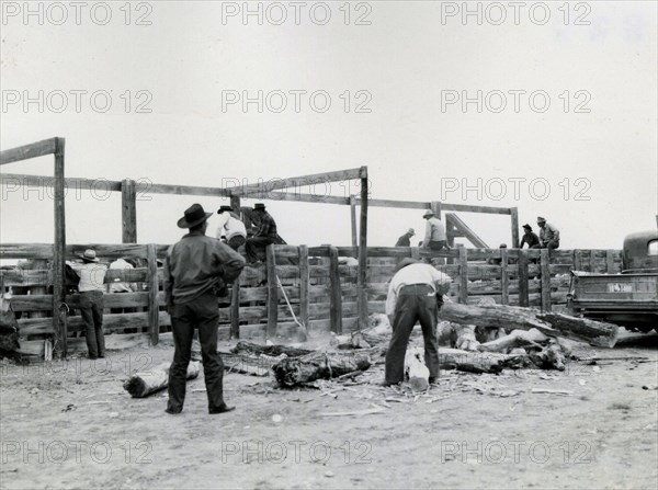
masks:
[(78, 255), (82, 263), (67, 264), (80, 276), (80, 316), (84, 321), (87, 352), (91, 360), (105, 357), (105, 335), (103, 334), (103, 292), (107, 265), (100, 264), (95, 250), (87, 249)]

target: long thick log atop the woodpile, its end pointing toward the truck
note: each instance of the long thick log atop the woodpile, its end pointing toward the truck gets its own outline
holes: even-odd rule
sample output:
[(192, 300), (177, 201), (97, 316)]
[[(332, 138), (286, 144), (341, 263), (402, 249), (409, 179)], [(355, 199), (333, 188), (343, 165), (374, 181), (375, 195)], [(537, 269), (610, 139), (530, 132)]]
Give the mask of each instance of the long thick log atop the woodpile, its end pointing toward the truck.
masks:
[(439, 311), (439, 317), (455, 323), (487, 328), (537, 329), (548, 337), (564, 337), (609, 347), (614, 346), (619, 335), (619, 327), (613, 323), (561, 314), (541, 314), (529, 308), (506, 305), (473, 306), (445, 303)]

